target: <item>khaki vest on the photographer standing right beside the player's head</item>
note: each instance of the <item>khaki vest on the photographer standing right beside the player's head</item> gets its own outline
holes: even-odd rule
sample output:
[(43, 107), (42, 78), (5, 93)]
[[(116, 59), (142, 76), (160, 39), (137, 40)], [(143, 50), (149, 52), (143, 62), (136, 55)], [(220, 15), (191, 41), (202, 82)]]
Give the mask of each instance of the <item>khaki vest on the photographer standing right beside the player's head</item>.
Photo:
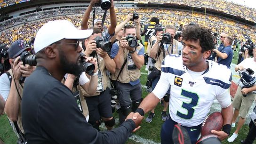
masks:
[[(178, 41), (173, 39), (173, 43), (172, 45), (175, 45), (175, 48), (173, 48), (173, 54), (178, 54)], [(170, 52), (172, 49), (172, 45), (169, 46), (168, 51)], [(168, 52), (167, 50), (165, 50), (165, 56), (168, 56)], [(155, 56), (153, 56), (155, 58)], [(163, 56), (163, 51), (161, 50), (160, 56), (158, 57), (158, 59), (156, 59), (156, 63), (155, 63), (155, 68), (157, 68), (159, 71), (161, 71), (161, 65), (162, 65), (162, 61), (164, 59)]]

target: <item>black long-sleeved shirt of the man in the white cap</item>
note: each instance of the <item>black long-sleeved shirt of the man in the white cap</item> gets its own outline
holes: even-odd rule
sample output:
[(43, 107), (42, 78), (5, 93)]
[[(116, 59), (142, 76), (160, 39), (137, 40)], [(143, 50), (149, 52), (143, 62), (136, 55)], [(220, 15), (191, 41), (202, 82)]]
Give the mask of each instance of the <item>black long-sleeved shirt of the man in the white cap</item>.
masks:
[(41, 66), (25, 82), (22, 118), (28, 144), (124, 144), (135, 128), (127, 120), (98, 132), (80, 112), (72, 91)]

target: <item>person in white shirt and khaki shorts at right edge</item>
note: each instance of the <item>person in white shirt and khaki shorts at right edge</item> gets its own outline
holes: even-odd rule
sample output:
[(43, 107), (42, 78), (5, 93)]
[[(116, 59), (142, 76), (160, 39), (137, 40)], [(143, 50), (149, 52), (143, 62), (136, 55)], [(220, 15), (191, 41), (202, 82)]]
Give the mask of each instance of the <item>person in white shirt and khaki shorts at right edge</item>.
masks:
[[(235, 71), (237, 72), (240, 70), (240, 72), (242, 72), (248, 68), (250, 68), (251, 70), (256, 72), (256, 49), (255, 48), (253, 49), (253, 57), (246, 58), (240, 64), (236, 65)], [(242, 78), (241, 78), (241, 80), (242, 80)], [(232, 119), (232, 127), (233, 128), (235, 127), (235, 122), (236, 122), (236, 119), (239, 116), (239, 114), (240, 114), (240, 118), (239, 118), (239, 122), (238, 122), (235, 132), (233, 133), (233, 135), (230, 138), (228, 138), (229, 142), (233, 142), (236, 139), (236, 137), (238, 136), (238, 132), (239, 132), (240, 128), (243, 126), (243, 124), (246, 120), (246, 116), (248, 114), (249, 108), (251, 107), (251, 105), (254, 101), (254, 98), (256, 96), (256, 85), (246, 88), (246, 87), (244, 87), (244, 84), (242, 83), (241, 80), (239, 81), (239, 86), (237, 88), (235, 98), (232, 101), (232, 105), (235, 108), (234, 116)], [(242, 88), (242, 87), (244, 87), (244, 88)]]

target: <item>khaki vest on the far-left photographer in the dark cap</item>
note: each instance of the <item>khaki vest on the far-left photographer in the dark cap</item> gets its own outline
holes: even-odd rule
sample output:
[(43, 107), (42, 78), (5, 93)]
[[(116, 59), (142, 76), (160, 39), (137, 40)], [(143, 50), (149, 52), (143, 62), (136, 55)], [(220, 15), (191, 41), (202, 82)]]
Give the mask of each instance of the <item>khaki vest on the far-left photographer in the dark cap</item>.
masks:
[[(12, 69), (10, 69), (8, 72), (10, 73), (12, 78), (14, 79)], [(18, 92), (19, 92), (20, 96), (23, 97), (24, 83), (23, 84), (18, 84), (16, 86), (17, 86), (17, 89), (18, 89)], [(18, 112), (17, 124), (18, 124), (18, 127), (21, 130), (21, 132), (24, 134), (24, 129), (23, 129), (23, 126), (22, 126), (22, 117), (21, 117), (21, 99), (20, 99), (19, 96), (18, 96), (18, 100), (19, 100), (19, 112)]]

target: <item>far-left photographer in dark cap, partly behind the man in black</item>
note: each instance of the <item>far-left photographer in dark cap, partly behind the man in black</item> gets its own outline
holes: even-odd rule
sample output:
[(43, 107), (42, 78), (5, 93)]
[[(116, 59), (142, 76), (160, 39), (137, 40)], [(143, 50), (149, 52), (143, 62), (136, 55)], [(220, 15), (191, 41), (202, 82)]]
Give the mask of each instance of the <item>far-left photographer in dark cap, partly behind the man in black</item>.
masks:
[(16, 40), (12, 43), (9, 48), (9, 63), (12, 65), (12, 68), (1, 75), (0, 87), (1, 95), (4, 94), (6, 97), (5, 112), (8, 115), (8, 119), (12, 125), (13, 129), (17, 132), (19, 140), (24, 141), (20, 136), (24, 136), (24, 129), (22, 125), (21, 117), (21, 101), (22, 101), (22, 92), (24, 86), (24, 80), (30, 76), (34, 71), (35, 67), (25, 64), (20, 60), (20, 56), (24, 51), (29, 50), (30, 48), (25, 48), (23, 40)]

